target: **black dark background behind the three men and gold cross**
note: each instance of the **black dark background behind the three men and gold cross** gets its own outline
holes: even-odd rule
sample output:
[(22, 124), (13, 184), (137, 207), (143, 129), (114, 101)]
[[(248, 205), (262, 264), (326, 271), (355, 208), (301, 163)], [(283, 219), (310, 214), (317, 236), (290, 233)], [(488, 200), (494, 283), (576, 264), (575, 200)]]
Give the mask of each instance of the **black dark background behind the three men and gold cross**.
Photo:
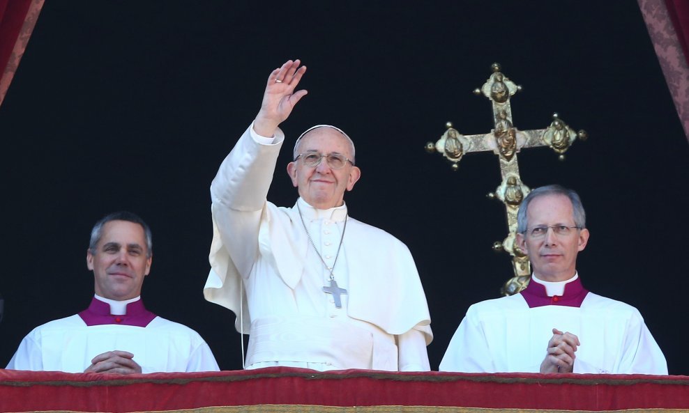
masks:
[[(453, 172), (423, 150), (448, 120), (490, 132), (490, 102), (471, 91), (499, 62), (524, 86), (516, 127), (543, 128), (557, 111), (589, 132), (566, 162), (547, 148), (519, 155), (529, 187), (580, 192), (584, 285), (636, 306), (670, 373), (689, 374), (689, 146), (633, 0), (46, 1), (0, 107), (0, 365), (33, 327), (86, 307), (91, 226), (126, 209), (153, 228), (146, 305), (202, 334), (221, 368), (241, 368), (234, 315), (202, 296), (209, 185), (268, 74), (294, 58), (309, 94), (282, 125), (286, 146), (315, 123), (356, 142), (363, 177), (349, 212), (414, 254), (432, 369), (467, 307), (511, 276), (491, 249), (506, 234), (503, 206), (485, 197), (497, 157), (467, 155)], [(269, 200), (295, 198), (280, 166)]]

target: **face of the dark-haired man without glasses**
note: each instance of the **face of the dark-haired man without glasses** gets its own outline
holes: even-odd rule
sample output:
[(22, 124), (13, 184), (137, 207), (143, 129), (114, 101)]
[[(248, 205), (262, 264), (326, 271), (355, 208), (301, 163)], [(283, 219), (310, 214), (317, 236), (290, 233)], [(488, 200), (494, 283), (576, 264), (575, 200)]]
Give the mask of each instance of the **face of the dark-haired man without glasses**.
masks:
[(119, 301), (141, 295), (144, 276), (151, 270), (144, 228), (130, 221), (109, 221), (96, 245), (86, 253), (86, 265), (93, 271), (96, 294)]

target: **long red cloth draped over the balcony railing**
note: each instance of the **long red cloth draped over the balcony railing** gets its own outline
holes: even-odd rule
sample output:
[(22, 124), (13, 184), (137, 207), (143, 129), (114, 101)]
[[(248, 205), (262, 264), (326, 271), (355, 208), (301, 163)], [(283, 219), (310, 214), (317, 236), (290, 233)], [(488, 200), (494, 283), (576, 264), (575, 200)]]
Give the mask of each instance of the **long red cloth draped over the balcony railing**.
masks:
[(0, 412), (688, 412), (689, 377), (259, 368), (112, 375), (0, 369)]

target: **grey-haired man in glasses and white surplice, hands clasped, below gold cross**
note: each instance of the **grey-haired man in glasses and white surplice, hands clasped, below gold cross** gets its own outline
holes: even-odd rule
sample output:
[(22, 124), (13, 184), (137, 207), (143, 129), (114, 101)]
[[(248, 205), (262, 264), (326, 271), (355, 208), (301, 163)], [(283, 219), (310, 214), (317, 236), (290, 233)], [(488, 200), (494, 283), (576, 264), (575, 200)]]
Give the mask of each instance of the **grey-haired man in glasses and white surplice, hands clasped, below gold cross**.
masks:
[(589, 231), (579, 196), (559, 185), (534, 189), (517, 221), (533, 268), (529, 286), (470, 306), (440, 370), (667, 374), (639, 311), (582, 286), (576, 258)]

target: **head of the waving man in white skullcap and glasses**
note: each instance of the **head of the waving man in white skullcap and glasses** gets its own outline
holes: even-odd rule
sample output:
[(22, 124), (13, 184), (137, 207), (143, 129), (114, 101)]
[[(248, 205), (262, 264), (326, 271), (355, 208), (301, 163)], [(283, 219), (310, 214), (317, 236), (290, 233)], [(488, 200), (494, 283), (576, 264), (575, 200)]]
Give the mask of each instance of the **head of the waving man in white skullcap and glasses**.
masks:
[[(305, 134), (299, 143), (297, 153), (315, 151), (321, 155), (338, 153), (351, 159), (351, 148), (347, 138), (331, 127), (319, 127)], [(351, 191), (361, 176), (361, 171), (350, 162), (341, 169), (332, 169), (325, 158), (318, 166), (306, 166), (301, 157), (287, 165), (292, 184), (298, 188), (299, 196), (314, 208), (326, 210), (342, 205), (345, 191)]]

